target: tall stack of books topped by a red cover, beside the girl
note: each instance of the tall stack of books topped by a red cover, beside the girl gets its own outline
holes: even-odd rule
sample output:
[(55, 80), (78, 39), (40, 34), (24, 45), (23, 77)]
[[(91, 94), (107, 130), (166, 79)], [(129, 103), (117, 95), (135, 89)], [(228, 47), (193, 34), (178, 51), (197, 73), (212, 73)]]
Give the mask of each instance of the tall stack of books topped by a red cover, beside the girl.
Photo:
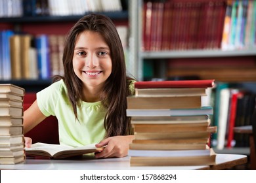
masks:
[(136, 82), (127, 97), (127, 116), (135, 139), (129, 144), (131, 166), (211, 165), (211, 106), (202, 107), (214, 80)]

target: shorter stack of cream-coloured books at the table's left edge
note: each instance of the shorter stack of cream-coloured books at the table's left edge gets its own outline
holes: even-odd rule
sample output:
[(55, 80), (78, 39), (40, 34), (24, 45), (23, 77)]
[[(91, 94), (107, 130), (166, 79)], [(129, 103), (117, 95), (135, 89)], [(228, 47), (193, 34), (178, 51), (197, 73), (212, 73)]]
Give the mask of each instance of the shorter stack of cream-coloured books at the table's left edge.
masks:
[(23, 134), (25, 90), (13, 84), (0, 84), (0, 164), (26, 159)]

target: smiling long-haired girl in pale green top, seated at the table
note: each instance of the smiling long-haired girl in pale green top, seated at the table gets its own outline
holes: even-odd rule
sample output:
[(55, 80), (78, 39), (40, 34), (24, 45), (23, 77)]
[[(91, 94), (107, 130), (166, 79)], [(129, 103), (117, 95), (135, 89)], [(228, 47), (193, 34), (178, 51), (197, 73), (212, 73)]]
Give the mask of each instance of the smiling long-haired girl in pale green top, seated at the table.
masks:
[[(106, 146), (95, 158), (127, 156), (133, 140), (126, 116), (134, 82), (126, 76), (123, 47), (112, 20), (90, 14), (68, 33), (63, 54), (64, 76), (37, 93), (24, 112), (24, 133), (47, 116), (58, 118), (60, 144)], [(26, 138), (26, 146), (32, 140)]]

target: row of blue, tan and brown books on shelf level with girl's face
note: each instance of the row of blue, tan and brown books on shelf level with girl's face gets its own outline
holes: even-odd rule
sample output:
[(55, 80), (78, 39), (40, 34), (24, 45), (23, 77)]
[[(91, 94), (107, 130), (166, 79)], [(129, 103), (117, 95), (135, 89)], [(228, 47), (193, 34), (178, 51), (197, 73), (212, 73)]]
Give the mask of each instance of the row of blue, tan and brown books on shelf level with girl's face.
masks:
[[(127, 50), (127, 26), (117, 25)], [(48, 79), (64, 75), (62, 55), (66, 35), (17, 34), (0, 31), (0, 80)]]

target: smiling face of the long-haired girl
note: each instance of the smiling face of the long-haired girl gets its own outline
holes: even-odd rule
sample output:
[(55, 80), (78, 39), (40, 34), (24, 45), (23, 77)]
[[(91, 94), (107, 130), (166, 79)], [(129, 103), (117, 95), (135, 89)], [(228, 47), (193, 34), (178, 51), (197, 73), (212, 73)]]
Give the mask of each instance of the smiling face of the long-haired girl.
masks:
[(112, 72), (110, 48), (99, 33), (84, 31), (75, 42), (73, 67), (86, 88), (102, 87)]

